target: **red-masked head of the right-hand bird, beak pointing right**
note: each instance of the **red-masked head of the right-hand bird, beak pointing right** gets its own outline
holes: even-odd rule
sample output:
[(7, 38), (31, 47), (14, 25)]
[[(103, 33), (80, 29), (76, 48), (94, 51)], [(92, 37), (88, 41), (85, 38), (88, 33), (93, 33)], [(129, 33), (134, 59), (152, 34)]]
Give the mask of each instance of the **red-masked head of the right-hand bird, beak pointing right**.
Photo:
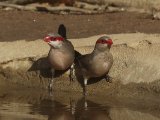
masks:
[(110, 49), (113, 44), (113, 41), (108, 36), (102, 36), (96, 41), (95, 48), (99, 50)]

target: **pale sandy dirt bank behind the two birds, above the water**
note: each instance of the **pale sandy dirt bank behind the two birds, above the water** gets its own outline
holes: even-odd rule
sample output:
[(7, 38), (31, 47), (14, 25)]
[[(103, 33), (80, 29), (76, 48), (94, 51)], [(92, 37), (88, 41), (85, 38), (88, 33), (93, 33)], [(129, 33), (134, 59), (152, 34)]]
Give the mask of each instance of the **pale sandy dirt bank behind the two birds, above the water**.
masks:
[[(99, 36), (70, 41), (77, 51), (84, 54), (93, 50)], [(107, 83), (105, 80), (89, 82), (89, 94), (159, 96), (159, 34), (135, 33), (109, 36), (114, 42), (111, 49), (114, 65), (109, 73), (113, 83)], [(48, 50), (48, 45), (42, 40), (1, 42), (0, 51), (3, 53), (0, 56), (0, 80), (7, 81), (8, 84), (46, 89), (51, 78), (50, 66), (46, 59)], [(57, 72), (54, 89), (82, 92), (79, 82), (70, 85), (68, 74), (61, 72)]]

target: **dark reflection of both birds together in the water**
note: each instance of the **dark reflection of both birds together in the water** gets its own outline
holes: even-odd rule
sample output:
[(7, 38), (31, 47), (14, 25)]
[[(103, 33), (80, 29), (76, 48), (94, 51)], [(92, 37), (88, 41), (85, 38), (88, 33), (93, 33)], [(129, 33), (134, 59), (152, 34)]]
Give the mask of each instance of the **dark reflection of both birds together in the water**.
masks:
[[(58, 102), (54, 102), (54, 107), (49, 107), (52, 104), (53, 102), (47, 102), (46, 100), (40, 104), (41, 114), (47, 114), (48, 120), (111, 120), (107, 106), (102, 107), (85, 99), (79, 100), (76, 105), (73, 105), (75, 103), (71, 103), (70, 107), (63, 106)], [(44, 109), (44, 105), (48, 107)]]

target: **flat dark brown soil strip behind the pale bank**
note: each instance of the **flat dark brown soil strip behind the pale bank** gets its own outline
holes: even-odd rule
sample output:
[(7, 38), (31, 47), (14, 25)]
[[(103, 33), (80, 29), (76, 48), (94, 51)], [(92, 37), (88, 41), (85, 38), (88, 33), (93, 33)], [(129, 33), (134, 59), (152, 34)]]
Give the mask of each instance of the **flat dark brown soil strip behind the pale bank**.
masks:
[(160, 33), (160, 22), (147, 14), (117, 12), (100, 15), (55, 15), (29, 11), (0, 10), (0, 41), (35, 40), (58, 26), (67, 27), (68, 38), (97, 34)]

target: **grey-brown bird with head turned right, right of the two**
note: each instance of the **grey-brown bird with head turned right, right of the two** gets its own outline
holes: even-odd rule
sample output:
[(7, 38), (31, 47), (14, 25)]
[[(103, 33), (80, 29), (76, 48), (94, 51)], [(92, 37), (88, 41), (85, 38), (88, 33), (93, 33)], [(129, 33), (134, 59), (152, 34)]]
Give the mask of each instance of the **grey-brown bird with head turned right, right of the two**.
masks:
[(108, 36), (100, 37), (90, 54), (81, 55), (77, 58), (80, 71), (83, 77), (83, 91), (86, 95), (86, 86), (90, 78), (108, 78), (108, 72), (113, 64), (113, 56), (110, 48), (113, 41)]

